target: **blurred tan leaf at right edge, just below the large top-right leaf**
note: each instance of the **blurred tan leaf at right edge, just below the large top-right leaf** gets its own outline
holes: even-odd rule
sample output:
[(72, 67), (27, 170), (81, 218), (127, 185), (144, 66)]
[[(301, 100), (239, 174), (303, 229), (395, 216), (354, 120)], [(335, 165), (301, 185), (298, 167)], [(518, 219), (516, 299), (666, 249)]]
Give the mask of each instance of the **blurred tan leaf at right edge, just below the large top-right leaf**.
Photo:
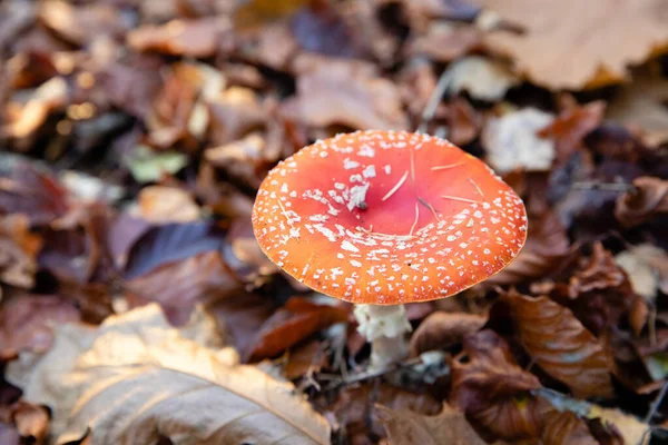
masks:
[(668, 139), (668, 79), (641, 73), (610, 101), (607, 117), (639, 132), (649, 145)]

